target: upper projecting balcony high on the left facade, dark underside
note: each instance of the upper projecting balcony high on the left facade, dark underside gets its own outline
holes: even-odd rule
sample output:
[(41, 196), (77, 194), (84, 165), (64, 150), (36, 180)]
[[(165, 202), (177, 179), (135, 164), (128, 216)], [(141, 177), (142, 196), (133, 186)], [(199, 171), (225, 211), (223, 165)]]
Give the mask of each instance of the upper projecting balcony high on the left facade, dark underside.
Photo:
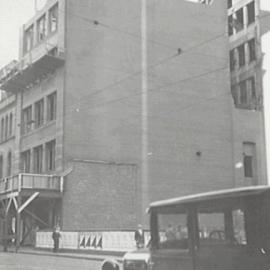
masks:
[(30, 88), (64, 62), (64, 52), (57, 46), (48, 49), (46, 44), (42, 44), (20, 61), (13, 60), (0, 70), (0, 89), (18, 92)]

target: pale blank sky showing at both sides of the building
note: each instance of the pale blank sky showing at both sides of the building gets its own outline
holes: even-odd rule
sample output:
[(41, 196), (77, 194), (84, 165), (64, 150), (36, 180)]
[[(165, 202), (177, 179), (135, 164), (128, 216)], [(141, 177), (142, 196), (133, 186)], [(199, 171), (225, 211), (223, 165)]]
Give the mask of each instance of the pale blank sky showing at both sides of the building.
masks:
[[(46, 2), (46, 0), (0, 0), (0, 68), (13, 59), (18, 59), (19, 29), (34, 15), (35, 1), (37, 1), (38, 8), (41, 8)], [(261, 0), (260, 4), (262, 10), (270, 11), (270, 0)], [(264, 103), (267, 164), (268, 175), (270, 176), (270, 91), (266, 91), (270, 89), (270, 33), (262, 41), (262, 50), (265, 53), (263, 61), (263, 68), (266, 70), (264, 76)]]

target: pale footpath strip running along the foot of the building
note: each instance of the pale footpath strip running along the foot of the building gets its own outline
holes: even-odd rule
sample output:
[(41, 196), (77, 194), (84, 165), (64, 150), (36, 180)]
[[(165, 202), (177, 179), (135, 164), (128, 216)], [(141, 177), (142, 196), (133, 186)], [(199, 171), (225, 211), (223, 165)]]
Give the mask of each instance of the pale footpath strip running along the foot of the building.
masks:
[[(0, 249), (3, 252), (3, 247)], [(14, 247), (9, 247), (9, 253), (15, 253)], [(71, 259), (84, 259), (91, 261), (104, 261), (107, 259), (116, 260), (119, 263), (122, 262), (122, 258), (125, 254), (123, 251), (102, 251), (102, 250), (88, 250), (88, 251), (73, 251), (73, 250), (59, 250), (57, 253), (49, 249), (38, 249), (31, 247), (20, 247), (19, 254), (29, 254), (38, 256), (53, 256), (53, 257), (65, 257)]]

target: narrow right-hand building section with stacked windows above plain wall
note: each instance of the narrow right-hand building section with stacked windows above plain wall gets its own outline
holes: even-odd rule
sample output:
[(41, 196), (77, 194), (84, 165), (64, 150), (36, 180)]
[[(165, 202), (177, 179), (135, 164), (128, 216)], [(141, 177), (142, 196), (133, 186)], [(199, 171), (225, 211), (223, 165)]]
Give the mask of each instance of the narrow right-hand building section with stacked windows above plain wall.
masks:
[[(234, 159), (243, 155), (242, 171), (236, 170), (236, 185), (258, 184), (265, 178), (263, 71), (260, 1), (228, 0), (231, 92), (234, 100)], [(241, 145), (242, 142), (242, 145)], [(238, 150), (238, 151), (237, 151)], [(240, 151), (239, 151), (240, 150)]]

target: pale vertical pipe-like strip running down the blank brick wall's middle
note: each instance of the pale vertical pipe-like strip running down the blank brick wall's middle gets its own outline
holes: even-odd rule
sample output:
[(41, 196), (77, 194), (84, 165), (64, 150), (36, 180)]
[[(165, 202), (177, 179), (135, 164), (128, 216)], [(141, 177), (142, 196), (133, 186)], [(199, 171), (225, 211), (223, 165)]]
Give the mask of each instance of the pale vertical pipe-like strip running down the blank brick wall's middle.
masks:
[(147, 80), (147, 0), (141, 0), (141, 50), (142, 50), (142, 179), (141, 215), (145, 216), (148, 204), (148, 80)]

